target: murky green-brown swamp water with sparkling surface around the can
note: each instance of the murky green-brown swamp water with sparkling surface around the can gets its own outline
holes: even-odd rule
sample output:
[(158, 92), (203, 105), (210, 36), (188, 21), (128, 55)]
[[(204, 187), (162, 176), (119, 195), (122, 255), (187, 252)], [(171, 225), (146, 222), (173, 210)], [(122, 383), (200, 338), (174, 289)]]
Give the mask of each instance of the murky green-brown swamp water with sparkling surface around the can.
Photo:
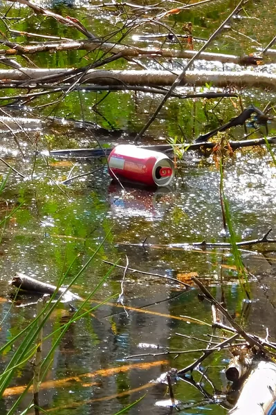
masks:
[[(139, 3), (142, 4), (142, 1)], [(227, 17), (230, 8), (226, 10), (226, 3), (213, 7), (210, 12), (201, 10), (199, 15), (189, 12), (188, 15), (169, 17), (172, 19), (169, 23), (174, 22), (178, 29), (185, 21), (192, 21), (194, 36), (208, 37)], [(266, 6), (261, 7), (258, 6), (259, 2), (252, 1), (246, 25), (243, 22), (245, 17), (241, 15), (233, 24), (236, 33), (223, 35), (211, 50), (223, 48), (226, 53), (241, 54), (243, 50), (247, 53), (252, 51), (254, 45), (258, 46), (257, 42), (266, 45), (272, 37), (271, 28), (275, 20), (275, 16), (269, 12), (273, 2), (266, 3)], [(72, 7), (66, 7), (62, 2), (53, 4), (48, 1), (43, 4), (64, 16), (84, 19), (84, 24), (91, 30), (93, 28), (98, 35), (107, 35), (112, 24), (120, 24), (120, 13), (112, 8), (108, 12), (95, 9), (93, 7), (98, 3), (93, 1), (89, 5), (86, 2), (72, 4)], [(20, 12), (28, 15), (25, 9)], [(19, 15), (19, 10), (15, 9), (12, 13), (15, 17)], [(252, 16), (255, 18), (251, 19)], [(264, 21), (265, 25), (260, 23)], [(64, 30), (59, 35), (73, 36), (70, 28), (60, 28), (57, 22), (49, 23), (46, 19), (40, 23), (42, 26), (39, 30), (48, 30), (47, 33), (53, 35), (57, 30)], [(28, 17), (19, 21), (17, 26), (29, 33), (38, 30), (33, 19)], [(146, 31), (140, 28), (136, 35), (145, 34)], [(243, 36), (241, 42), (237, 32), (244, 32), (250, 39)], [(145, 46), (149, 41), (142, 42), (145, 42), (142, 44)], [(156, 46), (156, 41), (150, 42), (150, 46)], [(74, 66), (86, 62), (83, 55), (71, 52), (38, 54), (35, 62), (42, 67)], [(128, 65), (121, 60), (117, 62), (118, 68), (123, 64)], [(217, 66), (223, 71), (223, 66)], [(273, 64), (269, 67), (271, 71), (275, 70)], [(1, 93), (8, 95), (7, 91)], [(94, 111), (93, 106), (103, 95), (71, 93), (54, 110), (46, 108), (39, 112), (35, 105), (5, 109), (13, 117), (25, 118), (23, 126), (30, 138), (39, 139), (35, 158), (34, 147), (26, 133), (17, 131), (17, 145), (5, 124), (1, 125), (0, 155), (26, 176), (21, 178), (11, 174), (2, 194), (2, 219), (7, 209), (10, 212), (14, 205), (23, 205), (6, 223), (1, 239), (1, 320), (6, 317), (1, 325), (1, 345), (24, 329), (36, 313), (36, 299), (30, 296), (18, 297), (11, 307), (10, 278), (20, 271), (57, 284), (60, 275), (79, 255), (66, 277), (68, 284), (102, 241), (104, 243), (91, 266), (73, 286), (74, 293), (82, 297), (91, 293), (109, 270), (109, 265), (102, 260), (120, 260), (119, 264), (125, 266), (128, 258), (129, 267), (147, 273), (167, 275), (188, 283), (190, 277), (198, 276), (219, 301), (225, 300), (228, 311), (248, 331), (265, 337), (266, 327), (269, 327), (269, 333), (275, 339), (274, 246), (254, 246), (250, 250), (241, 250), (243, 263), (250, 273), (250, 304), (243, 301), (230, 250), (170, 246), (172, 243), (203, 240), (223, 241), (220, 176), (212, 156), (205, 158), (197, 152), (187, 151), (176, 171), (174, 183), (166, 189), (146, 190), (126, 186), (122, 190), (111, 182), (106, 166), (93, 176), (79, 178), (66, 186), (59, 185), (72, 167), (73, 175), (81, 174), (104, 165), (104, 160), (50, 158), (46, 155), (48, 149), (93, 147), (93, 135), (103, 145), (133, 142), (135, 133), (146, 122), (160, 98), (131, 92), (113, 93)], [(264, 108), (273, 99), (273, 93), (250, 90), (245, 91), (242, 97), (244, 107), (253, 103)], [(36, 104), (43, 105), (47, 100), (48, 97), (41, 98)], [(169, 138), (180, 139), (179, 125), (187, 138), (193, 140), (200, 133), (217, 127), (217, 118), (227, 122), (234, 114), (237, 115), (234, 109), (239, 107), (239, 102), (237, 99), (232, 102), (185, 102), (172, 99), (143, 142), (156, 144), (166, 142)], [(214, 106), (215, 116), (212, 111)], [(46, 122), (46, 116), (75, 120), (84, 117), (100, 125), (102, 130), (93, 129), (92, 134), (74, 127), (72, 123), (61, 125), (57, 121)], [(26, 121), (26, 118), (39, 118), (40, 121)], [(29, 124), (26, 125), (26, 122)], [(13, 127), (16, 129), (15, 125)], [(273, 136), (275, 124), (271, 123), (269, 130), (270, 136)], [(252, 127), (248, 127), (248, 132), (253, 132)], [(261, 133), (264, 131), (253, 133), (252, 138), (261, 136)], [(238, 127), (232, 134), (234, 138), (241, 139), (244, 129)], [(1, 174), (6, 176), (7, 167), (1, 164), (0, 169)], [(276, 167), (266, 149), (237, 151), (232, 158), (228, 158), (224, 188), (237, 240), (261, 237), (269, 228), (273, 228), (272, 237), (275, 235), (275, 175)], [(147, 244), (141, 246), (146, 238)], [(104, 286), (93, 296), (91, 304), (96, 305), (113, 297), (93, 315), (86, 315), (73, 323), (62, 338), (39, 394), (39, 405), (46, 414), (116, 414), (144, 395), (127, 413), (159, 415), (172, 410), (163, 402), (169, 398), (167, 385), (155, 380), (165, 371), (182, 369), (200, 356), (199, 352), (179, 353), (175, 358), (176, 353), (167, 354), (166, 351), (205, 347), (205, 343), (181, 337), (177, 333), (208, 340), (208, 334), (212, 333), (210, 306), (199, 301), (196, 289), (185, 291), (179, 284), (161, 277), (149, 277), (129, 270), (122, 285), (122, 276), (122, 269), (112, 271)], [(122, 289), (123, 301), (118, 302)], [(72, 306), (77, 308), (78, 302), (57, 307), (44, 326), (44, 336), (68, 322)], [(44, 356), (54, 340), (55, 335), (44, 342)], [(6, 367), (14, 351), (15, 348), (1, 356), (1, 369)], [(155, 353), (156, 356), (136, 356), (147, 353)], [(228, 385), (223, 368), (229, 359), (228, 351), (214, 353), (203, 362), (199, 371), (194, 371), (194, 381), (200, 383), (201, 390), (192, 385), (192, 379), (190, 382), (189, 379), (176, 382), (174, 394), (180, 402), (181, 414), (227, 413), (227, 405), (215, 403), (212, 396), (215, 391), (218, 400), (223, 401), (226, 395)], [(32, 376), (31, 362), (24, 369), (18, 368), (17, 377), (12, 379), (0, 401), (0, 414), (8, 413)], [(18, 414), (31, 399), (31, 393), (24, 396)]]

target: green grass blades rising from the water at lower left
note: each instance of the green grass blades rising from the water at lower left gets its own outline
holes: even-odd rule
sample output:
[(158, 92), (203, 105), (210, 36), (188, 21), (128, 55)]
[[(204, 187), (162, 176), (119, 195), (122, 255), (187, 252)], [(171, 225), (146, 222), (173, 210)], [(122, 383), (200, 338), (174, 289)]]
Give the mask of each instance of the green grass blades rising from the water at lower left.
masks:
[[(2, 182), (1, 182), (0, 195), (3, 192), (4, 188), (6, 187), (6, 183), (8, 181), (9, 175), (10, 175), (10, 172), (7, 174), (6, 178), (3, 178)], [(21, 205), (22, 205), (22, 203), (21, 203)], [(5, 218), (0, 221), (0, 225), (2, 225), (2, 229), (1, 229), (1, 232), (0, 232), (1, 233), (0, 238), (1, 238), (1, 235), (3, 235), (3, 232), (6, 228), (6, 223), (7, 223), (8, 219), (10, 218), (10, 216), (15, 214), (15, 212), (21, 207), (21, 205), (18, 205), (16, 208), (12, 209), (10, 214), (6, 214)], [(107, 237), (108, 237), (108, 234), (107, 234)], [(1, 241), (1, 239), (0, 239), (0, 241)], [(104, 241), (105, 241), (105, 239), (104, 239)], [(37, 316), (33, 319), (33, 321), (30, 322), (23, 330), (21, 330), (20, 333), (13, 336), (12, 339), (8, 340), (8, 342), (6, 342), (6, 344), (3, 344), (3, 346), (1, 346), (0, 356), (3, 356), (4, 354), (6, 354), (7, 351), (10, 351), (10, 349), (12, 349), (12, 347), (15, 349), (15, 352), (13, 353), (12, 357), (10, 358), (10, 360), (9, 360), (8, 364), (6, 365), (5, 369), (0, 374), (0, 398), (3, 397), (3, 394), (6, 391), (6, 389), (9, 387), (10, 382), (12, 381), (13, 378), (15, 378), (18, 369), (23, 369), (30, 362), (30, 359), (32, 359), (33, 356), (35, 356), (35, 353), (37, 353), (37, 349), (39, 347), (42, 347), (42, 344), (46, 340), (48, 340), (48, 338), (56, 335), (57, 337), (53, 341), (53, 344), (50, 348), (50, 351), (48, 351), (47, 356), (42, 360), (41, 365), (39, 367), (40, 374), (39, 374), (39, 379), (36, 379), (36, 388), (35, 388), (38, 391), (40, 382), (42, 382), (42, 380), (45, 378), (46, 374), (48, 373), (48, 370), (50, 369), (50, 367), (52, 365), (53, 356), (54, 356), (55, 351), (56, 351), (56, 349), (59, 345), (59, 342), (62, 340), (62, 338), (64, 337), (64, 334), (66, 333), (68, 328), (71, 326), (71, 324), (73, 324), (73, 322), (77, 322), (77, 320), (80, 320), (82, 317), (88, 315), (89, 313), (93, 313), (93, 311), (95, 311), (99, 306), (101, 306), (102, 304), (104, 304), (104, 302), (108, 301), (109, 299), (111, 299), (111, 297), (113, 297), (113, 296), (111, 296), (111, 297), (107, 298), (101, 304), (98, 304), (97, 306), (93, 306), (92, 308), (89, 306), (89, 301), (90, 301), (91, 297), (93, 297), (93, 295), (95, 295), (96, 291), (98, 291), (100, 289), (100, 287), (102, 286), (102, 284), (104, 284), (107, 277), (109, 277), (109, 275), (111, 274), (113, 268), (116, 265), (109, 268), (106, 275), (104, 275), (104, 277), (102, 277), (100, 282), (95, 286), (95, 288), (93, 288), (93, 290), (86, 297), (86, 299), (82, 300), (80, 306), (78, 307), (77, 311), (75, 311), (75, 313), (72, 315), (71, 319), (66, 324), (59, 327), (55, 331), (53, 331), (50, 335), (46, 336), (45, 338), (42, 337), (42, 339), (40, 339), (39, 343), (37, 344), (37, 338), (39, 338), (39, 334), (42, 335), (42, 329), (43, 329), (44, 325), (46, 324), (46, 322), (48, 321), (50, 315), (53, 313), (55, 308), (57, 308), (57, 306), (59, 305), (59, 302), (61, 302), (62, 297), (66, 294), (66, 292), (68, 292), (68, 290), (71, 288), (71, 286), (73, 286), (73, 284), (75, 284), (77, 279), (91, 265), (93, 259), (95, 258), (96, 255), (98, 255), (99, 250), (102, 248), (102, 244), (104, 243), (104, 241), (98, 246), (98, 248), (95, 250), (95, 252), (93, 252), (93, 255), (88, 259), (88, 261), (86, 261), (86, 264), (84, 264), (82, 269), (75, 275), (75, 277), (73, 277), (71, 279), (71, 282), (66, 287), (64, 293), (62, 293), (62, 295), (59, 295), (59, 297), (57, 297), (57, 293), (58, 293), (58, 290), (59, 290), (60, 286), (62, 286), (64, 284), (65, 280), (68, 278), (69, 272), (70, 272), (71, 268), (73, 267), (73, 264), (75, 263), (76, 259), (79, 257), (79, 255), (77, 255), (73, 259), (73, 261), (71, 262), (71, 265), (68, 267), (66, 272), (62, 275), (62, 277), (59, 279), (59, 282), (57, 284), (57, 288), (55, 290), (55, 293), (53, 293), (53, 295), (51, 295), (50, 299), (48, 300), (48, 302), (46, 302), (46, 304), (43, 304), (43, 306), (41, 308), (41, 311), (37, 312)], [(118, 294), (116, 294), (116, 295), (118, 295)], [(54, 299), (55, 299), (55, 301), (53, 301)], [(11, 305), (11, 307), (12, 307), (12, 305)], [(8, 311), (8, 313), (10, 313), (10, 310)], [(1, 324), (3, 324), (5, 318), (6, 317), (4, 317), (4, 319), (0, 323), (0, 329), (1, 329)], [(15, 414), (15, 411), (18, 410), (19, 404), (21, 403), (23, 398), (26, 396), (26, 394), (28, 392), (28, 389), (30, 389), (30, 386), (33, 384), (33, 380), (34, 380), (34, 377), (30, 380), (28, 385), (26, 385), (26, 388), (25, 388), (23, 394), (21, 394), (19, 396), (19, 398), (17, 398), (15, 403), (13, 403), (13, 405), (9, 409), (7, 415)], [(30, 398), (29, 405), (26, 407), (26, 409), (24, 409), (23, 412), (21, 412), (21, 415), (28, 414), (28, 412), (30, 412), (30, 410), (33, 410), (33, 409), (35, 409), (36, 414), (39, 414), (39, 412), (45, 413), (42, 408), (38, 407), (38, 405), (35, 406), (34, 403), (33, 403), (33, 399)]]

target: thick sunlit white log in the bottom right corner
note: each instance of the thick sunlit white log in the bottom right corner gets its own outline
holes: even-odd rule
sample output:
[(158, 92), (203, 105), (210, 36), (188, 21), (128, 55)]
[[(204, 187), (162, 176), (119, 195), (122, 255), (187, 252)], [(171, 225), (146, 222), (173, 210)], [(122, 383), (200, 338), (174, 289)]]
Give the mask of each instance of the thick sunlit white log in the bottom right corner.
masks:
[(276, 364), (261, 360), (243, 383), (228, 415), (266, 415), (276, 400)]

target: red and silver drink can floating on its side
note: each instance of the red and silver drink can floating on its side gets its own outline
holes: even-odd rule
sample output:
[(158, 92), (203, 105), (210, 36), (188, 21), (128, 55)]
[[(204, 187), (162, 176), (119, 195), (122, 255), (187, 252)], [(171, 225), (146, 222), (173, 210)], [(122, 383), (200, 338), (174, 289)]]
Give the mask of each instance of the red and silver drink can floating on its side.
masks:
[(118, 145), (109, 155), (109, 174), (149, 186), (167, 186), (174, 178), (174, 163), (159, 151)]

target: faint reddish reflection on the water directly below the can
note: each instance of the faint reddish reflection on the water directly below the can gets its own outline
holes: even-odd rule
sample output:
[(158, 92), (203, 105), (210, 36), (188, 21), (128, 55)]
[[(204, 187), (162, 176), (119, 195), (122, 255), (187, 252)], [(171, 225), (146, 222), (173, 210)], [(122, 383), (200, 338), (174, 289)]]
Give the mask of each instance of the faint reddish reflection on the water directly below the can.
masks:
[(109, 205), (115, 216), (161, 218), (172, 205), (172, 198), (169, 187), (158, 187), (155, 191), (134, 187), (123, 190), (116, 182), (109, 185)]

